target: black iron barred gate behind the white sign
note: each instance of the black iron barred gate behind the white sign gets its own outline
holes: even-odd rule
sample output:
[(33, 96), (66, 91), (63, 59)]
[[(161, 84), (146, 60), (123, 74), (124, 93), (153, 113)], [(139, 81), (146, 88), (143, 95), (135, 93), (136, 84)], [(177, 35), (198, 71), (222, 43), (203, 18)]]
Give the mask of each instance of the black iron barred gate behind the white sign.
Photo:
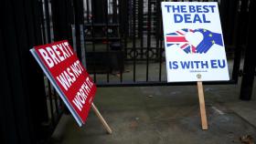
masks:
[[(206, 84), (236, 84), (248, 36), (249, 1), (218, 2), (229, 67), (233, 68), (229, 68), (229, 81)], [(166, 83), (160, 4), (157, 0), (84, 2), (84, 47), (77, 49), (84, 48), (82, 58), (98, 87), (195, 84)]]

